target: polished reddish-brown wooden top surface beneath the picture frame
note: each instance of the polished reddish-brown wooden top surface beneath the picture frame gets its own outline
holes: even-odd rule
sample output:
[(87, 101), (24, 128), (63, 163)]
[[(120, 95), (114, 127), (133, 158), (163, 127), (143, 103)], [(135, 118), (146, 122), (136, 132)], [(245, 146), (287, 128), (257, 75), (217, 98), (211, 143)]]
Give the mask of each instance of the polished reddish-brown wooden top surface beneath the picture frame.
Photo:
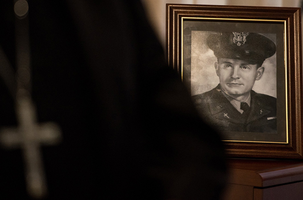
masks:
[(303, 161), (228, 159), (229, 183), (268, 187), (303, 181)]

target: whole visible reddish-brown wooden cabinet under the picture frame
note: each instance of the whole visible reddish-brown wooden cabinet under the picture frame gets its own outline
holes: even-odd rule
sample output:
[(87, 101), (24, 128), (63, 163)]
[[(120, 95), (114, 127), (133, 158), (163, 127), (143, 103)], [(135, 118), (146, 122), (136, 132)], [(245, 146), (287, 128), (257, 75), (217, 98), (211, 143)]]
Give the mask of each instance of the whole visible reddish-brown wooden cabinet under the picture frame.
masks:
[(303, 161), (229, 159), (224, 200), (302, 200)]

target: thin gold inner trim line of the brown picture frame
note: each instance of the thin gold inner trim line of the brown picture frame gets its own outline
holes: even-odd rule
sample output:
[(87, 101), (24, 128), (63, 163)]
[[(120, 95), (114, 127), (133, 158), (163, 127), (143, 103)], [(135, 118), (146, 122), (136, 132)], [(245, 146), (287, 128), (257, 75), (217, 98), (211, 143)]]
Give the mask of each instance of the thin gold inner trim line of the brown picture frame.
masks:
[(235, 19), (235, 18), (204, 18), (204, 17), (181, 17), (181, 80), (183, 81), (183, 21), (184, 19), (198, 19), (201, 21), (262, 21), (262, 22), (275, 22), (284, 24), (284, 68), (285, 68), (285, 121), (286, 121), (286, 142), (266, 142), (266, 141), (242, 141), (242, 140), (223, 140), (225, 142), (250, 142), (250, 143), (276, 143), (276, 144), (288, 144), (288, 100), (287, 100), (287, 40), (286, 40), (286, 20), (271, 20), (271, 19)]

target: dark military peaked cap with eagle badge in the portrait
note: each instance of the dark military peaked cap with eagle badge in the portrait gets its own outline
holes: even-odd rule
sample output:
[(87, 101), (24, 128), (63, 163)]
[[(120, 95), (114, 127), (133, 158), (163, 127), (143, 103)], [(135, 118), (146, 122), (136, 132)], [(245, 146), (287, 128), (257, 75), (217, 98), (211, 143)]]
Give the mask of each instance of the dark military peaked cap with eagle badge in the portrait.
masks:
[(258, 33), (214, 32), (207, 38), (208, 47), (217, 58), (263, 62), (276, 52), (276, 45)]

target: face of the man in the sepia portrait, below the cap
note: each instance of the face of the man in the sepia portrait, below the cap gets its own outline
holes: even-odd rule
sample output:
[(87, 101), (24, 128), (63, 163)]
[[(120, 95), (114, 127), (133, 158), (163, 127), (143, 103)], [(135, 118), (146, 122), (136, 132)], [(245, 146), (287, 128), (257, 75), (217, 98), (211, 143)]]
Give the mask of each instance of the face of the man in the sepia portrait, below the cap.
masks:
[(230, 58), (219, 58), (215, 68), (221, 88), (232, 97), (248, 95), (264, 71), (264, 67), (257, 64)]

